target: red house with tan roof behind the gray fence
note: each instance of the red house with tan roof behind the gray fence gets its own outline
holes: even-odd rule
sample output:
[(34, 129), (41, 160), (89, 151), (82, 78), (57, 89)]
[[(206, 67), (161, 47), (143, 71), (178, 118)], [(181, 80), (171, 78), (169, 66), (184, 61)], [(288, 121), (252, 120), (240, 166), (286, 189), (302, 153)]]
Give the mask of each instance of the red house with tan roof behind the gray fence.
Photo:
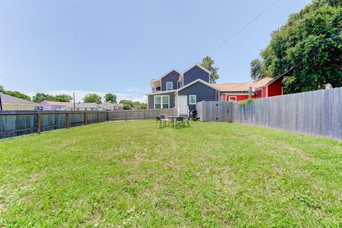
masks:
[(251, 83), (222, 83), (216, 84), (220, 89), (219, 100), (247, 100), (249, 88), (252, 87), (252, 98), (267, 98), (284, 94), (283, 76), (278, 78), (261, 78)]

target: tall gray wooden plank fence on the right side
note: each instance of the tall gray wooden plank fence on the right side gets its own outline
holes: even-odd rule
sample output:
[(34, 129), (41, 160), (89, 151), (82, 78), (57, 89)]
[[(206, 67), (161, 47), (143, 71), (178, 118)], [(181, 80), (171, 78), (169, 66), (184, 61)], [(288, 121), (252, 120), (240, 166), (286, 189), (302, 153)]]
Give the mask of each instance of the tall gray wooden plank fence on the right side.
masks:
[(196, 107), (204, 121), (229, 121), (342, 140), (342, 88), (259, 98), (244, 106), (239, 103), (204, 101)]

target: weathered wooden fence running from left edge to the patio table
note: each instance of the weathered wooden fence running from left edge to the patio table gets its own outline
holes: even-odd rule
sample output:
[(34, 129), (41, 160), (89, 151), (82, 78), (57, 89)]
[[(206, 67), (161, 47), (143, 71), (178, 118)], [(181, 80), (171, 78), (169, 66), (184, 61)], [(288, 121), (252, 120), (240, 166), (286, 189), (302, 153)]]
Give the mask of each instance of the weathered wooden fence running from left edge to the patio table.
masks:
[(105, 121), (148, 120), (159, 115), (177, 115), (177, 110), (3, 111), (0, 113), (0, 138)]

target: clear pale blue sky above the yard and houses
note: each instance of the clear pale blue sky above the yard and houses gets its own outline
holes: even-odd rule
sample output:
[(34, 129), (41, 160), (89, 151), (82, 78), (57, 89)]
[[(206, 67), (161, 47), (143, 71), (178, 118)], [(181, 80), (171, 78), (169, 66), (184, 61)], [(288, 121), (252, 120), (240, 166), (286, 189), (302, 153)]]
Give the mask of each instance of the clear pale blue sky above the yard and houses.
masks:
[[(270, 34), (309, 0), (0, 1), (0, 84), (28, 95), (76, 91), (144, 100), (151, 78), (209, 54), (218, 83), (249, 81)], [(24, 85), (23, 85), (24, 84)]]

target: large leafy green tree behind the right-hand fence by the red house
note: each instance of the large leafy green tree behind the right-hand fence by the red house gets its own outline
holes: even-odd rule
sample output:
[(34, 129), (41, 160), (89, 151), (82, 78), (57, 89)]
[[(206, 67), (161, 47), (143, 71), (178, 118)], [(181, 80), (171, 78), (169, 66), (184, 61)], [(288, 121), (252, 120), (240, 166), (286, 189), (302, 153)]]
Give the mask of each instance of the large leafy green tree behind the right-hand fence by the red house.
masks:
[[(342, 1), (314, 0), (271, 34), (263, 76), (286, 73), (286, 93), (342, 86)], [(251, 70), (252, 71), (252, 70)]]

